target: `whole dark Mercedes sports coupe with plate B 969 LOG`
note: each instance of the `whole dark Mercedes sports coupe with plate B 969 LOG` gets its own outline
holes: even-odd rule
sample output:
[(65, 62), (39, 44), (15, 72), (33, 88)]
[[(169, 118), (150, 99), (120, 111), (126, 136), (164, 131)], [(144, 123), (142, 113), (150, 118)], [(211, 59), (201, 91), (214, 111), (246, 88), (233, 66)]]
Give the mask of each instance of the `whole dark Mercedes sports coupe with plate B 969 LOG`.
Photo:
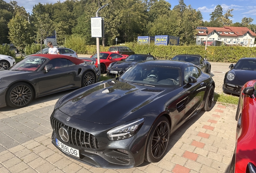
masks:
[(192, 63), (139, 62), (122, 76), (60, 98), (52, 143), (94, 167), (124, 169), (160, 161), (170, 135), (213, 107), (215, 83)]

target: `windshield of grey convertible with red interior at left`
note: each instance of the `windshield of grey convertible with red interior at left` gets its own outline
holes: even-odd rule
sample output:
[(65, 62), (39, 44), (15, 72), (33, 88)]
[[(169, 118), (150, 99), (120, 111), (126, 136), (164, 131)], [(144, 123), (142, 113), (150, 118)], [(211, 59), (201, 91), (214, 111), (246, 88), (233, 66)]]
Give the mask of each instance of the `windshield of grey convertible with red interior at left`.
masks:
[(47, 58), (41, 56), (28, 56), (14, 66), (10, 67), (12, 71), (36, 71), (40, 66), (46, 62)]

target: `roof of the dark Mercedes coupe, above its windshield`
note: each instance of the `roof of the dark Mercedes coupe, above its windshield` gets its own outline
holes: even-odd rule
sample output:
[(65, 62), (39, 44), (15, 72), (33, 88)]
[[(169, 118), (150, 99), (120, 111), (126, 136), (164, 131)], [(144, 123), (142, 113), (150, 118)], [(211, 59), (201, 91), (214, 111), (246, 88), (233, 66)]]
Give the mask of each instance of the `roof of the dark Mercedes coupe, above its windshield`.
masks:
[(148, 60), (148, 61), (139, 62), (138, 64), (140, 63), (143, 63), (144, 65), (171, 66), (176, 68), (181, 68), (181, 66), (183, 65), (195, 66), (195, 64), (192, 64), (190, 62), (176, 61), (176, 60)]

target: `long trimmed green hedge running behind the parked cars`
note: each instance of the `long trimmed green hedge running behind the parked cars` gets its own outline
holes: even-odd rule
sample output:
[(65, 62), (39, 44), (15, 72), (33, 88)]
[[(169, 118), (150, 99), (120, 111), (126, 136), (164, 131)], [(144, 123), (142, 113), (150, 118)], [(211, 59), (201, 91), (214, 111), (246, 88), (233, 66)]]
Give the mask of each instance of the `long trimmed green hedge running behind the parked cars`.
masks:
[[(149, 52), (158, 59), (171, 59), (177, 54), (200, 54), (212, 62), (237, 62), (243, 57), (256, 57), (256, 47), (241, 46), (208, 46), (204, 50), (204, 46), (155, 46), (141, 45), (137, 42), (129, 42), (123, 44), (130, 47), (136, 54), (148, 54)], [(72, 45), (69, 48), (75, 50), (78, 54), (95, 54), (96, 45), (85, 45), (83, 51), (76, 50)], [(100, 46), (100, 51), (104, 52), (109, 46)]]

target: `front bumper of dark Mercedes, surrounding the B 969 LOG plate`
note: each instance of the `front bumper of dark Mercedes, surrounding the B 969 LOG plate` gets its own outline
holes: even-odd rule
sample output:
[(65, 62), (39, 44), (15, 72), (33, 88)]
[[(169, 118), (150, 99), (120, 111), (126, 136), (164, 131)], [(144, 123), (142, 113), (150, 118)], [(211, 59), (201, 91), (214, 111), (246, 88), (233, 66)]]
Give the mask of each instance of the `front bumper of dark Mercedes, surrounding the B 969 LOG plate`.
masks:
[[(63, 115), (63, 119), (66, 120), (67, 115)], [(70, 122), (73, 121), (73, 122)], [(79, 159), (69, 155), (65, 151), (62, 151), (59, 147), (57, 147), (62, 153), (71, 157), (72, 159), (81, 161), (87, 165), (91, 165), (93, 167), (102, 167), (107, 169), (126, 169), (131, 167), (136, 167), (143, 163), (145, 158), (145, 150), (147, 143), (147, 136), (151, 126), (142, 125), (141, 129), (138, 131), (136, 135), (130, 137), (128, 139), (123, 139), (119, 141), (109, 141), (107, 138), (105, 131), (95, 132), (95, 129), (100, 129), (100, 124), (91, 123), (87, 121), (81, 122), (81, 120), (74, 119), (71, 117), (68, 122), (68, 126), (61, 123), (59, 120), (53, 118), (51, 116), (51, 125), (54, 129), (52, 133), (52, 144), (56, 147), (56, 138), (64, 143), (65, 145), (79, 149), (80, 157)], [(81, 127), (79, 128), (79, 125)], [(74, 124), (73, 124), (74, 123)], [(58, 129), (62, 126), (66, 126), (69, 129), (72, 128), (73, 131), (73, 140), (72, 142), (65, 143), (59, 136)], [(94, 126), (94, 128), (90, 128)], [(97, 127), (95, 127), (97, 126)], [(94, 129), (93, 131), (85, 132), (83, 127), (89, 127), (89, 129)], [(98, 128), (99, 127), (99, 128)], [(85, 135), (84, 135), (85, 134)], [(89, 135), (88, 135), (89, 134)], [(87, 136), (92, 140), (83, 140), (83, 136)], [(87, 138), (87, 139), (88, 139)], [(88, 145), (84, 145), (87, 143)]]

